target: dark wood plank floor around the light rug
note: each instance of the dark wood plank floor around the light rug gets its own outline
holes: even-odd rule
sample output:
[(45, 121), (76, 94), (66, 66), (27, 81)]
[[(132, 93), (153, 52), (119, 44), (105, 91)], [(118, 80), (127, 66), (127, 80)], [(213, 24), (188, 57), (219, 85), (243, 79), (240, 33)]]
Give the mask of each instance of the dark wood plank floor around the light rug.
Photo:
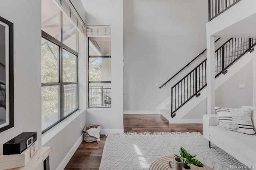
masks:
[[(202, 124), (169, 124), (162, 115), (124, 115), (124, 132), (201, 132)], [(65, 170), (98, 170), (106, 136), (100, 142), (82, 142)]]

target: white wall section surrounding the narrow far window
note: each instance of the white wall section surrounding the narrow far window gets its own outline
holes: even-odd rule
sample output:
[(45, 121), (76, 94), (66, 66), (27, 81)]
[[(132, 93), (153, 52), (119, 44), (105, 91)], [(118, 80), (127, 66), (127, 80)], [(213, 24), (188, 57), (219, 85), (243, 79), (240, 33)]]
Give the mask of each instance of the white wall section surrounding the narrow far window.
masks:
[(86, 125), (101, 125), (101, 133), (123, 132), (123, 1), (83, 0), (86, 25), (111, 26), (111, 108), (86, 111)]

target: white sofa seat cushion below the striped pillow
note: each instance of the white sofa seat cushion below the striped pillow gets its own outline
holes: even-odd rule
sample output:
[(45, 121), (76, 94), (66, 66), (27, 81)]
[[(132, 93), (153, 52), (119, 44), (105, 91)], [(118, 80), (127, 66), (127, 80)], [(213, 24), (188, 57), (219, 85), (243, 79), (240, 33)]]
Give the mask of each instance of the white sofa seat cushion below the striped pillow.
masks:
[[(235, 158), (245, 157), (251, 162), (256, 161), (256, 136), (225, 130), (220, 127), (209, 127), (210, 141), (232, 154)], [(236, 155), (239, 154), (239, 155)], [(241, 160), (240, 160), (241, 161)]]

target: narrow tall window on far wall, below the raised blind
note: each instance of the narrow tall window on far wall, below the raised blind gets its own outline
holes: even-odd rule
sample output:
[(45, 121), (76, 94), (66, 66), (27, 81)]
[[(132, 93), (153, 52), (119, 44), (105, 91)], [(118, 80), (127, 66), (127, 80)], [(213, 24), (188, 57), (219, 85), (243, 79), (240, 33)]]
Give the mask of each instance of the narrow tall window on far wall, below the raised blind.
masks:
[(110, 37), (89, 37), (89, 107), (111, 107)]

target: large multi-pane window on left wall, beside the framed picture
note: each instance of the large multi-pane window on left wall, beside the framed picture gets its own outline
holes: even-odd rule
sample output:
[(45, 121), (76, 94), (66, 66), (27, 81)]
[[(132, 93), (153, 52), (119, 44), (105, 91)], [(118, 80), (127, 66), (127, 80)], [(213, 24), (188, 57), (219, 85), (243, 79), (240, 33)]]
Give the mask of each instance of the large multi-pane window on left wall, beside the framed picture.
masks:
[(42, 0), (42, 133), (78, 110), (78, 31), (52, 0)]

